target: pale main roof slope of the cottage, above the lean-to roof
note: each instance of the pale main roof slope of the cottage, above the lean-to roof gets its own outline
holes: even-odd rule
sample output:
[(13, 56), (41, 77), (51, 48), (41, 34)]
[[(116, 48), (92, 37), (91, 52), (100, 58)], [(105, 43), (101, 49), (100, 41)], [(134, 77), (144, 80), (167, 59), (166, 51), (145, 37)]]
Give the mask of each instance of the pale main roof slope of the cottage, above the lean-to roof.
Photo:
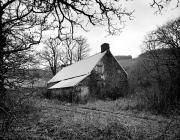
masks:
[[(102, 53), (97, 53), (93, 56), (90, 56), (86, 59), (83, 59), (81, 61), (78, 61), (78, 62), (70, 65), (70, 66), (63, 68), (51, 80), (49, 80), (48, 83), (54, 83), (54, 82), (59, 82), (59, 81), (63, 81), (63, 80), (67, 80), (67, 79), (74, 79), (74, 78), (77, 78), (74, 80), (78, 81), (79, 80), (78, 77), (89, 74), (92, 71), (92, 69), (95, 67), (95, 65), (101, 60), (101, 58), (105, 54), (106, 54), (106, 51), (104, 51)], [(72, 80), (66, 81), (66, 82), (71, 83)], [(58, 86), (58, 84), (56, 84), (56, 85)], [(62, 85), (64, 85), (64, 83)], [(66, 85), (66, 87), (68, 86), (67, 83), (65, 85)], [(71, 84), (69, 84), (69, 85), (71, 85)], [(61, 86), (59, 88), (61, 88)]]

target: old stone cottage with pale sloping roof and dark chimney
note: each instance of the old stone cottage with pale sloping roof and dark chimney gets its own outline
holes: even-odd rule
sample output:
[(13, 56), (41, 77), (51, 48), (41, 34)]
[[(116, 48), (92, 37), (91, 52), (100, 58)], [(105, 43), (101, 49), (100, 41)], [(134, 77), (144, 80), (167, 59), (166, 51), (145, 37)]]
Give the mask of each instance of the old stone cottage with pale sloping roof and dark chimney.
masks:
[[(127, 93), (127, 73), (109, 49), (101, 45), (101, 52), (60, 70), (47, 84), (52, 94), (69, 94), (73, 98), (122, 96)], [(114, 91), (115, 93), (113, 93)]]

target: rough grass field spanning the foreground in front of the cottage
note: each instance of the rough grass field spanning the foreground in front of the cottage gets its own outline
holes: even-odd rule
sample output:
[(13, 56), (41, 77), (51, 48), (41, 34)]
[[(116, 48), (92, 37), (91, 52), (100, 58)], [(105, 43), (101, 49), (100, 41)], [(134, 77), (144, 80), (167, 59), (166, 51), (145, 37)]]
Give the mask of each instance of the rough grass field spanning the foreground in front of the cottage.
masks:
[(27, 112), (16, 118), (7, 139), (173, 140), (180, 136), (178, 120), (156, 115), (160, 119), (156, 121), (149, 119), (152, 114), (137, 117), (143, 113), (137, 115), (128, 109), (130, 104), (135, 105), (128, 99), (96, 101), (86, 105), (62, 104), (58, 100), (39, 97), (28, 100)]

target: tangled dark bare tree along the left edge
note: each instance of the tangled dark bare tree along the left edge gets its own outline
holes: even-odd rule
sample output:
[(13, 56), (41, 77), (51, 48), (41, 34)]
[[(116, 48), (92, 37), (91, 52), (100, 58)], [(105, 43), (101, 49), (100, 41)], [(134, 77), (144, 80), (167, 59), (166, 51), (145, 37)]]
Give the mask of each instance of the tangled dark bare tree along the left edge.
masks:
[[(38, 15), (33, 16), (32, 7), (23, 1), (8, 0), (0, 4), (0, 96), (3, 98), (5, 84), (9, 83), (7, 74), (20, 69), (28, 57), (25, 57), (26, 50), (39, 42), (43, 20)], [(34, 26), (42, 30), (35, 32)], [(32, 30), (32, 34), (28, 34), (28, 30)]]

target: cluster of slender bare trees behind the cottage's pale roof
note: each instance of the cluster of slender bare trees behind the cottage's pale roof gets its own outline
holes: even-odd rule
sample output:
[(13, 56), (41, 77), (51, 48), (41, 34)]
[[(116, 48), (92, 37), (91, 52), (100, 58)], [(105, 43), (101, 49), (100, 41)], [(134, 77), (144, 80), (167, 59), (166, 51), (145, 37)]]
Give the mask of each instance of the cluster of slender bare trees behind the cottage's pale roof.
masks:
[(44, 45), (43, 50), (37, 54), (41, 65), (50, 67), (53, 75), (58, 69), (84, 59), (90, 51), (87, 40), (82, 36), (66, 37), (63, 41), (58, 38), (49, 38), (44, 41)]

